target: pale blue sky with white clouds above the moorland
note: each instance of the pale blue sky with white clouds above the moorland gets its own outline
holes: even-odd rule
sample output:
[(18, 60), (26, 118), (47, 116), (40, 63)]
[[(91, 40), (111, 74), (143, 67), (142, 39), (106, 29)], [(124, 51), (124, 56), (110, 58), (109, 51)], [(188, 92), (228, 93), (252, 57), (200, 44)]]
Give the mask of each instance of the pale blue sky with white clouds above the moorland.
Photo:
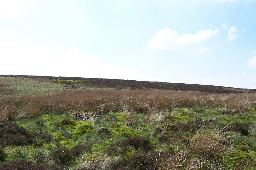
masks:
[(0, 74), (256, 89), (256, 0), (0, 0)]

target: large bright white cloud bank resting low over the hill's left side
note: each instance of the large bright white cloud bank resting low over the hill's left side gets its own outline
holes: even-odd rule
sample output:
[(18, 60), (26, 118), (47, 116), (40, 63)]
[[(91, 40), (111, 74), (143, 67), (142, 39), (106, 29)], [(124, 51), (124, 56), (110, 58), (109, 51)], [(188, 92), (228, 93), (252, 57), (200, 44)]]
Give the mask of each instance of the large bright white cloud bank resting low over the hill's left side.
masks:
[(90, 78), (134, 79), (138, 70), (102, 62), (72, 46), (59, 49), (50, 46), (22, 44), (0, 40), (1, 74), (72, 76)]

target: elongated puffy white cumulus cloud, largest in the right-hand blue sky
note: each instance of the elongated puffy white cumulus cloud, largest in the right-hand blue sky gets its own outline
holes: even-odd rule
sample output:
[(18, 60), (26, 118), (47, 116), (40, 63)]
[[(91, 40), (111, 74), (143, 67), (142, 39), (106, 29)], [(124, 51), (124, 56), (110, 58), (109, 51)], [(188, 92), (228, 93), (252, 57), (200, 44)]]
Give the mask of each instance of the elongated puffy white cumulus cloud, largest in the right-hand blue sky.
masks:
[(195, 34), (179, 36), (178, 31), (170, 28), (159, 29), (154, 37), (149, 39), (147, 46), (155, 50), (181, 49), (185, 46), (196, 45), (204, 42), (219, 33), (219, 29), (199, 30)]

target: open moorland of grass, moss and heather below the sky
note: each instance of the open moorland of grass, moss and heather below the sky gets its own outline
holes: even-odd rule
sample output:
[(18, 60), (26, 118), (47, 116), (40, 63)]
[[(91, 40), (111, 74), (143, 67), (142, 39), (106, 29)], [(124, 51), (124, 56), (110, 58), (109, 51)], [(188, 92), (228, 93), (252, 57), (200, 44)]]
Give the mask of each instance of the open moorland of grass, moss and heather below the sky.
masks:
[(253, 89), (104, 81), (0, 76), (0, 169), (256, 168)]

